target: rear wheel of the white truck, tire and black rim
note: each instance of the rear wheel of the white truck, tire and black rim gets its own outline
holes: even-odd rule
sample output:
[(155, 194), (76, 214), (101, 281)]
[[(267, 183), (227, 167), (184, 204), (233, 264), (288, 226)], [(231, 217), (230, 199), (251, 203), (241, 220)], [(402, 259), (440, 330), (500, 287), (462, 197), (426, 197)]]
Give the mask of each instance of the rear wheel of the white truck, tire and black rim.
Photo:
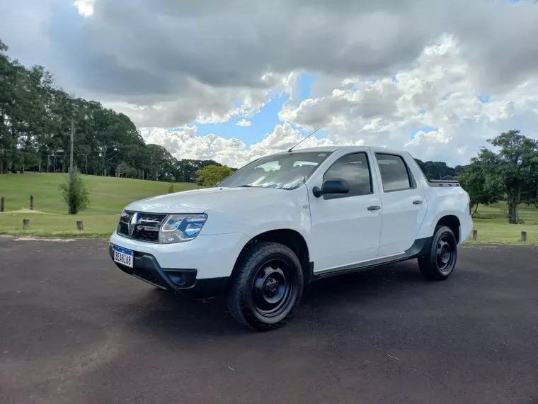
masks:
[(457, 240), (447, 226), (437, 226), (430, 252), (418, 258), (418, 268), (428, 281), (445, 281), (454, 273), (457, 261)]

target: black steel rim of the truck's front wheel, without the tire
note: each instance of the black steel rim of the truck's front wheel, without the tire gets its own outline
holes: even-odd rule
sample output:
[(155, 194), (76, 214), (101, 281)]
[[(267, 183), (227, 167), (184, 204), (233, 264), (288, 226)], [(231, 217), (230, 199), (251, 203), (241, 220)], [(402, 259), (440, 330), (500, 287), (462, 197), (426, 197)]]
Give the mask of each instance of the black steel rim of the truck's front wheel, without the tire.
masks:
[(261, 265), (253, 279), (251, 303), (265, 318), (283, 313), (293, 300), (296, 278), (281, 259)]

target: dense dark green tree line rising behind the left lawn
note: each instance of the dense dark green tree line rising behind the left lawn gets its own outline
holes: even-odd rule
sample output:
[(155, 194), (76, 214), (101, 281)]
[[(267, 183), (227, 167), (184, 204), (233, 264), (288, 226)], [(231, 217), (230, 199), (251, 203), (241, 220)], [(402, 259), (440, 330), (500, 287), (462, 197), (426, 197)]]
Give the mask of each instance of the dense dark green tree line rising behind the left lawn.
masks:
[(196, 181), (213, 160), (176, 159), (146, 144), (123, 113), (67, 94), (42, 66), (24, 67), (0, 40), (0, 173), (67, 172), (71, 131), (74, 165), (84, 174), (158, 181)]

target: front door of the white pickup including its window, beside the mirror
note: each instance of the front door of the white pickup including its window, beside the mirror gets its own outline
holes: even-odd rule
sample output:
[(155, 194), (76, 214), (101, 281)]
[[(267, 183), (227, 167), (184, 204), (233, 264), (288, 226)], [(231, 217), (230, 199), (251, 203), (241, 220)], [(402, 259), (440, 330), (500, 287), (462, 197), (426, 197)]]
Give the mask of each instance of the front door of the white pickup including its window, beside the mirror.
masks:
[(319, 198), (309, 189), (314, 273), (377, 257), (382, 204), (369, 157), (369, 152), (344, 155), (309, 180), (310, 188), (321, 188), (324, 179), (345, 179), (350, 187), (347, 194)]

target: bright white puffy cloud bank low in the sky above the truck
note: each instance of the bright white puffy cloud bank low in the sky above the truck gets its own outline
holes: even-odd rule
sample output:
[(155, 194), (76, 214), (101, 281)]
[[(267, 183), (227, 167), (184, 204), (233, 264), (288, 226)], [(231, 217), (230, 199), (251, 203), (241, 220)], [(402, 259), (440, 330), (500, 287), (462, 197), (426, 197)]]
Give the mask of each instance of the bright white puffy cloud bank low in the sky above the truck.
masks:
[[(484, 94), (477, 91), (475, 72), (473, 64), (460, 52), (457, 40), (445, 35), (425, 47), (413, 64), (397, 72), (395, 79), (329, 77), (316, 89), (316, 98), (299, 105), (286, 103), (279, 114), (285, 123), (251, 147), (241, 140), (216, 134), (198, 137), (195, 127), (186, 128), (185, 134), (144, 130), (144, 138), (159, 144), (173, 139), (173, 146), (167, 147), (176, 157), (212, 158), (240, 166), (301, 140), (290, 123), (306, 130), (326, 125), (327, 138), (313, 136), (301, 147), (393, 147), (408, 150), (420, 159), (442, 160), (452, 165), (467, 164), (479, 147), (486, 145), (487, 138), (505, 130), (517, 128), (525, 135), (537, 137), (538, 80), (487, 94), (491, 96), (490, 102), (481, 103), (478, 96)], [(288, 91), (294, 88), (290, 79), (283, 84)], [(416, 132), (416, 128), (423, 126), (437, 130)]]

